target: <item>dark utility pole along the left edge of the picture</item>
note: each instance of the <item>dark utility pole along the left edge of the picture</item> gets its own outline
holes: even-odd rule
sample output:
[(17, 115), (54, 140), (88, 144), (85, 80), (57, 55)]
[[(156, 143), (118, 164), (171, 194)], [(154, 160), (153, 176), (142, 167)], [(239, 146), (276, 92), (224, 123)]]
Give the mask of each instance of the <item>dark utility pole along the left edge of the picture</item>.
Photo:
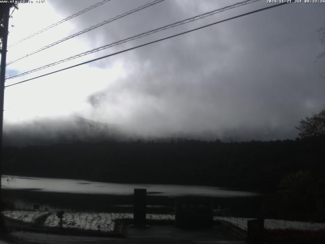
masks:
[[(7, 40), (8, 40), (8, 26), (9, 26), (9, 11), (11, 7), (16, 6), (10, 3), (0, 4), (0, 38), (2, 40), (1, 48), (1, 66), (0, 66), (0, 211), (2, 211), (2, 194), (1, 194), (1, 176), (2, 176), (2, 134), (4, 121), (4, 96), (5, 96), (5, 75), (6, 75), (6, 57), (7, 57)], [(2, 218), (2, 217), (0, 217)], [(1, 220), (0, 225), (3, 224)], [(0, 226), (3, 229), (3, 226)]]

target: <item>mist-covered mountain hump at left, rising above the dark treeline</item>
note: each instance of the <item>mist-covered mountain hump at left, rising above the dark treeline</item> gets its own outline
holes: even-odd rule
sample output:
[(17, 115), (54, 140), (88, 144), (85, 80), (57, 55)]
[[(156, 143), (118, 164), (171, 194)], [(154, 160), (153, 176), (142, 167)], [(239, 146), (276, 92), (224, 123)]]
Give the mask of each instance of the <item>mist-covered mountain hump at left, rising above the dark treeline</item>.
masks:
[(39, 119), (23, 125), (5, 125), (5, 128), (4, 144), (16, 146), (131, 139), (115, 126), (78, 116), (73, 119)]

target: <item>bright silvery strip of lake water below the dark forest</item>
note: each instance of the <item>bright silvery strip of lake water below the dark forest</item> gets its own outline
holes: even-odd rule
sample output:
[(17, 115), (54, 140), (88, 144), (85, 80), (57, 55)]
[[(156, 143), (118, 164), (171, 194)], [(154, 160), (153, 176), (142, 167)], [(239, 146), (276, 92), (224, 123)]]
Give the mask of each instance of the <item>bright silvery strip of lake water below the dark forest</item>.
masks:
[(217, 187), (158, 185), (158, 184), (118, 184), (78, 179), (58, 179), (3, 175), (2, 188), (38, 192), (133, 195), (135, 188), (146, 188), (152, 196), (209, 196), (247, 197), (256, 196), (253, 192), (237, 191)]

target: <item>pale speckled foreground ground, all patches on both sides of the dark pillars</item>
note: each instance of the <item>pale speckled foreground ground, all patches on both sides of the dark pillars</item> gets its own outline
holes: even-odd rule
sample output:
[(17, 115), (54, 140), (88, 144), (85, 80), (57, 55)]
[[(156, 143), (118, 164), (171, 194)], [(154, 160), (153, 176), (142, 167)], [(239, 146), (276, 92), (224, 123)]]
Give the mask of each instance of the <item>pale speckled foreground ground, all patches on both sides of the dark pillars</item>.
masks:
[[(26, 223), (35, 221), (50, 214), (44, 222), (44, 227), (59, 227), (59, 218), (56, 212), (47, 211), (3, 211), (4, 216), (20, 220)], [(94, 230), (111, 232), (114, 231), (115, 221), (120, 219), (133, 219), (133, 214), (112, 213), (112, 212), (66, 212), (63, 215), (63, 228), (76, 228), (80, 230)], [(248, 218), (217, 217), (214, 220), (230, 222), (243, 230), (247, 230)], [(147, 214), (147, 220), (175, 220), (174, 215)], [(297, 229), (297, 230), (320, 230), (325, 229), (325, 223), (299, 222), (286, 220), (265, 220), (266, 229)]]

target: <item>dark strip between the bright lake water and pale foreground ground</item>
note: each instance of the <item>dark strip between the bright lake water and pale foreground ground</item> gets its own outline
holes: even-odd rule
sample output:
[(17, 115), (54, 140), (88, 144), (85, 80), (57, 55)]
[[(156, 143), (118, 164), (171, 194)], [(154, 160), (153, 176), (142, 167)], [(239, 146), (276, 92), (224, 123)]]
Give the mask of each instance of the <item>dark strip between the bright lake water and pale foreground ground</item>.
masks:
[[(30, 190), (2, 189), (7, 209), (31, 210), (34, 204), (38, 204), (40, 210), (72, 210), (72, 211), (133, 211), (133, 195), (110, 194), (81, 194), (81, 193), (57, 193)], [(200, 197), (199, 197), (200, 198)], [(176, 197), (147, 195), (147, 209), (151, 213), (169, 214), (174, 210)], [(211, 197), (213, 208), (227, 208), (233, 216), (251, 217), (258, 215), (258, 209), (263, 196), (249, 197)], [(156, 206), (165, 206), (157, 208)]]

